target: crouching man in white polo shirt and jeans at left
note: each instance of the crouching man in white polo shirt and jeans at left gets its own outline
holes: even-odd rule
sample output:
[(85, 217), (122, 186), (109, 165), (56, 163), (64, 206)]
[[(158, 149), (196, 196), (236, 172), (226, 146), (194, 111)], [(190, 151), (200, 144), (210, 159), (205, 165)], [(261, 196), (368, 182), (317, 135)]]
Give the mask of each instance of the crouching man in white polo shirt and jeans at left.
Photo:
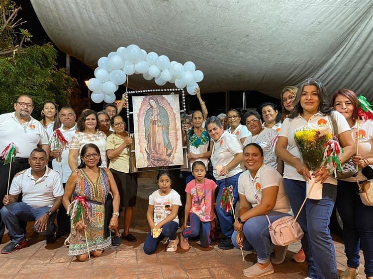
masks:
[[(31, 167), (14, 176), (9, 195), (2, 200), (1, 218), (11, 241), (2, 248), (1, 254), (14, 252), (27, 244), (20, 221), (35, 221), (35, 231), (46, 235), (47, 244), (56, 241), (54, 219), (64, 195), (61, 176), (48, 168), (44, 149), (32, 150), (28, 161)], [(20, 193), (22, 202), (18, 203)]]

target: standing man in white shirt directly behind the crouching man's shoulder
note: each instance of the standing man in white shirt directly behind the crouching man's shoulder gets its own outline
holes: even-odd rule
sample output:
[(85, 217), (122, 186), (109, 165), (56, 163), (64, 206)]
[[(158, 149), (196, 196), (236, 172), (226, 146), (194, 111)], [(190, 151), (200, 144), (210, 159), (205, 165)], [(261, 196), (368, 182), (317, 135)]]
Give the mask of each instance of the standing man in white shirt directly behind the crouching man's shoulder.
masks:
[[(60, 109), (60, 121), (62, 127), (58, 128), (61, 134), (67, 141), (71, 141), (77, 132), (77, 124), (75, 123), (76, 115), (71, 107), (63, 107)], [(56, 146), (53, 142), (51, 144), (51, 158), (53, 170), (60, 173), (62, 177), (63, 187), (65, 189), (66, 182), (71, 174), (69, 167), (69, 149), (61, 150), (61, 147)], [(56, 237), (59, 238), (65, 234), (70, 233), (70, 217), (66, 213), (63, 205), (60, 206), (57, 213)]]

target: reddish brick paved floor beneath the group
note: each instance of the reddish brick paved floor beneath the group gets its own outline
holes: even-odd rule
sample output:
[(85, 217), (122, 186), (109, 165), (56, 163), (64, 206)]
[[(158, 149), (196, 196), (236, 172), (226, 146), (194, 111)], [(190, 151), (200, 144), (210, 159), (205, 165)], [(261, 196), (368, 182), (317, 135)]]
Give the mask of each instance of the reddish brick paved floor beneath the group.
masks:
[[(218, 241), (212, 242), (210, 248), (202, 248), (195, 241), (190, 241), (189, 251), (183, 251), (179, 247), (176, 253), (165, 252), (165, 245), (160, 244), (156, 254), (145, 255), (142, 247), (149, 230), (145, 217), (147, 199), (155, 190), (154, 179), (139, 179), (137, 206), (131, 228), (131, 233), (138, 239), (136, 243), (123, 240), (119, 247), (112, 246), (105, 250), (100, 258), (92, 258), (91, 261), (80, 263), (67, 255), (68, 249), (63, 244), (64, 238), (53, 245), (46, 245), (42, 236), (32, 233), (32, 224), (29, 223), (27, 247), (8, 255), (0, 255), (0, 278), (245, 278), (242, 271), (256, 263), (256, 255), (245, 253), (245, 262), (243, 262), (240, 250), (220, 250), (217, 248)], [(123, 220), (121, 221), (123, 223)], [(344, 246), (338, 235), (333, 235), (333, 239), (338, 272), (341, 273), (346, 268)], [(4, 236), (0, 249), (8, 240), (7, 235)], [(265, 278), (305, 278), (307, 265), (290, 260), (299, 247), (299, 243), (290, 245), (285, 261), (280, 265), (274, 265), (275, 273)], [(364, 261), (362, 253), (361, 257)], [(365, 276), (360, 275), (358, 278), (362, 279)]]

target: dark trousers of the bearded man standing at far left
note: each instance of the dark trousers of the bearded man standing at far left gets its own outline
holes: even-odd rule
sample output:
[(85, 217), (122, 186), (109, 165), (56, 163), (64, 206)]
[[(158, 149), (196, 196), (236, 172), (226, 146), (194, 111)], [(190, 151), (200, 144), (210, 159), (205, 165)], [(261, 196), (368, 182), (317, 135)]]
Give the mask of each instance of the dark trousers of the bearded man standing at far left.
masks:
[[(6, 195), (6, 190), (7, 190), (7, 185), (8, 185), (8, 176), (9, 176), (9, 166), (10, 164), (4, 165), (4, 161), (0, 160), (0, 209), (4, 206), (2, 204), (2, 199)], [(25, 161), (22, 163), (18, 163), (18, 162), (11, 163), (9, 189), (10, 189), (11, 181), (14, 175), (17, 172), (20, 172), (21, 170), (27, 169), (29, 167), (30, 165), (28, 164), (28, 161)], [(26, 227), (24, 222), (22, 222), (21, 226)], [(4, 231), (5, 231), (5, 224), (0, 217), (0, 242), (2, 240), (2, 236), (4, 235)]]

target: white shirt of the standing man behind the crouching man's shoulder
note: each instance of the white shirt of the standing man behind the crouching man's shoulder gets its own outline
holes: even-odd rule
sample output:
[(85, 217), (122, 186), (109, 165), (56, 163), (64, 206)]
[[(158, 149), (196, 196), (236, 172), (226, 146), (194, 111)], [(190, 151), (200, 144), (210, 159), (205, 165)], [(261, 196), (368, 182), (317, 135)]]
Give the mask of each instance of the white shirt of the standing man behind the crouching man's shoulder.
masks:
[[(62, 135), (65, 137), (67, 141), (71, 141), (73, 136), (77, 133), (77, 124), (74, 125), (73, 128), (70, 128), (69, 130), (63, 129), (63, 127), (58, 128)], [(56, 149), (55, 143), (51, 142), (51, 151)], [(69, 176), (71, 174), (71, 169), (69, 167), (69, 146), (68, 144), (66, 145), (65, 150), (61, 150), (61, 163), (56, 159), (52, 160), (52, 167), (55, 171), (57, 172), (62, 172), (62, 182), (66, 183), (67, 180), (69, 179)]]

